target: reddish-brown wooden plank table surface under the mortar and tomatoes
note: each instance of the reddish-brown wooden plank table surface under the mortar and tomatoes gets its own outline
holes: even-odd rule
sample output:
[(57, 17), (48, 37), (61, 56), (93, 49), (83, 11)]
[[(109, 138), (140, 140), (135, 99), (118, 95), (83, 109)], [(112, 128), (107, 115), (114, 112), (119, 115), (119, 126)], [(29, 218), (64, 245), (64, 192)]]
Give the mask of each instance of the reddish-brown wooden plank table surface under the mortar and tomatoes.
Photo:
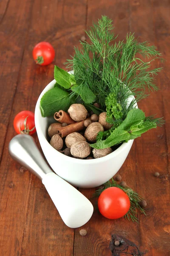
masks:
[[(166, 125), (133, 143), (119, 173), (147, 201), (139, 223), (111, 221), (98, 211), (79, 235), (62, 222), (38, 178), (14, 162), (8, 143), (14, 116), (34, 111), (37, 98), (53, 79), (54, 64), (64, 67), (73, 46), (101, 15), (113, 19), (119, 39), (135, 32), (139, 41), (155, 44), (166, 59), (156, 77), (161, 90), (139, 102), (146, 115), (164, 116)], [(56, 57), (47, 67), (36, 65), (32, 49), (49, 41)], [(168, 0), (2, 0), (0, 2), (0, 255), (109, 256), (111, 234), (133, 241), (147, 256), (170, 256), (170, 2)], [(155, 67), (160, 66), (154, 63)], [(149, 108), (148, 108), (149, 107)], [(37, 139), (37, 137), (35, 136)], [(104, 171), (104, 170), (103, 170)], [(159, 172), (160, 177), (154, 177)], [(95, 189), (79, 189), (90, 198)], [(122, 255), (127, 255), (122, 253)], [(130, 254), (131, 255), (131, 254)]]

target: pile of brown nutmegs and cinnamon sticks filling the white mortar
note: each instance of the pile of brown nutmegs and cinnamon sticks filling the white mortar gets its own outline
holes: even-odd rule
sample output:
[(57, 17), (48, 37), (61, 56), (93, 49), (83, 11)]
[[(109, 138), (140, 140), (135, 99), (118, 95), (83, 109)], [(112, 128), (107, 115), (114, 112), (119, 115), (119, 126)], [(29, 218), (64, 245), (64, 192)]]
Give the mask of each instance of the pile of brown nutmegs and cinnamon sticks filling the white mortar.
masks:
[[(99, 103), (94, 103), (94, 111), (100, 108)], [(96, 142), (101, 131), (107, 131), (113, 125), (106, 122), (106, 113), (99, 116), (94, 111), (87, 111), (82, 104), (72, 104), (68, 113), (58, 111), (54, 114), (53, 122), (48, 127), (48, 136), (53, 148), (67, 157), (78, 159), (95, 159), (105, 157), (113, 152), (112, 148), (91, 148), (91, 143)]]

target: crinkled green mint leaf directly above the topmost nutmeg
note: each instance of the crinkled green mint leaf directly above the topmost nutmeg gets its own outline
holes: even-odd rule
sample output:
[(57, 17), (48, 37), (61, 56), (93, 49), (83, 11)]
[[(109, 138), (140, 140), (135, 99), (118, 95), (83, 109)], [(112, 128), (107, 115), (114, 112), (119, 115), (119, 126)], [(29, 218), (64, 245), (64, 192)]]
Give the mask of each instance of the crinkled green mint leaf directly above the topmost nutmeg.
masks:
[(83, 86), (82, 84), (81, 85), (76, 84), (72, 86), (71, 90), (79, 94), (85, 103), (92, 103), (96, 99), (96, 96), (94, 95), (94, 93), (88, 87)]

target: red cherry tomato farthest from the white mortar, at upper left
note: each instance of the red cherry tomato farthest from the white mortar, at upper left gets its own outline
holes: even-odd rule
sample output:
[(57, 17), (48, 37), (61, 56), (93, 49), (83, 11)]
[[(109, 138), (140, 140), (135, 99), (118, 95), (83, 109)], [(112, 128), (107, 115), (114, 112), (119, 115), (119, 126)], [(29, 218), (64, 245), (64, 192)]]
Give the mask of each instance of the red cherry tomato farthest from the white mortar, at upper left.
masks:
[(34, 47), (32, 55), (37, 64), (45, 66), (54, 60), (55, 51), (48, 42), (40, 42)]

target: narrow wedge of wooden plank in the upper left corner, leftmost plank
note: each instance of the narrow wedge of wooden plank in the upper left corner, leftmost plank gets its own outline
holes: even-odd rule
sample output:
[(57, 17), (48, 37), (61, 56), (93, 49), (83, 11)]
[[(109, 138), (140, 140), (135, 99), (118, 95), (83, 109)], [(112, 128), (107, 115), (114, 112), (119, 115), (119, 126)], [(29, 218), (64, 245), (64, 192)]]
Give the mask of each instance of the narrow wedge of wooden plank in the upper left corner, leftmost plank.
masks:
[(0, 81), (3, 82), (0, 87), (0, 159), (23, 58), (32, 3), (32, 0), (17, 0), (1, 1), (0, 4)]

